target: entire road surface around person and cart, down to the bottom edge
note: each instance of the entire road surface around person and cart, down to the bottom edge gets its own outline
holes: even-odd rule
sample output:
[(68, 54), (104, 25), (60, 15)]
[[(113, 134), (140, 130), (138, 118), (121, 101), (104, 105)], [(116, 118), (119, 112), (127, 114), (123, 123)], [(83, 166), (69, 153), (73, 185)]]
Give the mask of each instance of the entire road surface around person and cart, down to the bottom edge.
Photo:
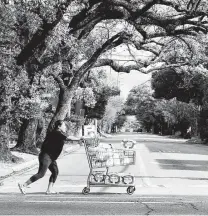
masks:
[(58, 195), (44, 193), (50, 172), (25, 196), (20, 194), (17, 183), (37, 167), (7, 179), (0, 187), (0, 215), (207, 215), (207, 146), (143, 133), (118, 134), (102, 142), (121, 148), (124, 138), (137, 141), (136, 164), (111, 170), (135, 175), (133, 195), (126, 194), (126, 188), (91, 188), (83, 195), (89, 167), (81, 147), (58, 160)]

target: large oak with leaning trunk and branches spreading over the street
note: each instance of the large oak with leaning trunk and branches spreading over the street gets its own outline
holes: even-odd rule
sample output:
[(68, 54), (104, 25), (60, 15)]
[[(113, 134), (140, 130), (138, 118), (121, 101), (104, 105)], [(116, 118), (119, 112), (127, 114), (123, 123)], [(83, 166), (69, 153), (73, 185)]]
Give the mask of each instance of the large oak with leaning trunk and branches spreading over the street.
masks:
[[(18, 1), (17, 1), (18, 2)], [(47, 1), (44, 1), (47, 2)], [(28, 29), (23, 28), (20, 32), (24, 36), (24, 43), (15, 56), (16, 64), (26, 68), (29, 83), (33, 84), (37, 74), (42, 74), (47, 66), (61, 62), (68, 65), (67, 70), (59, 73), (51, 72), (51, 76), (57, 82), (60, 92), (59, 101), (51, 120), (48, 130), (51, 130), (54, 121), (64, 119), (70, 110), (73, 92), (79, 85), (83, 76), (93, 67), (110, 66), (116, 72), (127, 72), (138, 70), (148, 73), (149, 65), (162, 63), (163, 67), (179, 67), (187, 65), (187, 58), (171, 63), (166, 62), (168, 44), (174, 41), (182, 41), (184, 46), (190, 50), (186, 38), (194, 40), (198, 34), (207, 33), (207, 5), (206, 1), (176, 1), (176, 0), (63, 0), (54, 3), (34, 1), (34, 5), (26, 5), (25, 14), (32, 13), (37, 18), (35, 28), (27, 36)], [(7, 5), (6, 7), (10, 7)], [(23, 13), (21, 26), (25, 27), (26, 21)], [(102, 40), (99, 46), (95, 46), (81, 64), (76, 64), (76, 57), (72, 55), (71, 49), (75, 43), (65, 46), (64, 42), (59, 44), (59, 51), (49, 52), (49, 38), (57, 32), (62, 23), (67, 23), (68, 28), (65, 37), (73, 37), (77, 49), (85, 43), (91, 33), (96, 29), (102, 33), (106, 21), (122, 20), (133, 29), (129, 31), (125, 26), (118, 32), (110, 29), (109, 37)], [(21, 30), (21, 28), (18, 28)], [(27, 38), (27, 40), (25, 40)], [(122, 66), (110, 58), (103, 58), (103, 54), (121, 44), (127, 44), (129, 52), (137, 49), (148, 53), (147, 59), (134, 58), (133, 64)], [(63, 47), (62, 47), (63, 45)], [(164, 52), (166, 50), (166, 52)], [(166, 54), (166, 55), (164, 55)], [(162, 57), (161, 57), (162, 56)], [(102, 57), (102, 58), (100, 58)], [(190, 58), (190, 56), (188, 56)], [(167, 64), (168, 63), (168, 64)], [(73, 67), (72, 67), (73, 66)], [(147, 68), (147, 69), (145, 69)], [(155, 69), (155, 67), (154, 67)], [(1, 147), (3, 149), (3, 147)]]

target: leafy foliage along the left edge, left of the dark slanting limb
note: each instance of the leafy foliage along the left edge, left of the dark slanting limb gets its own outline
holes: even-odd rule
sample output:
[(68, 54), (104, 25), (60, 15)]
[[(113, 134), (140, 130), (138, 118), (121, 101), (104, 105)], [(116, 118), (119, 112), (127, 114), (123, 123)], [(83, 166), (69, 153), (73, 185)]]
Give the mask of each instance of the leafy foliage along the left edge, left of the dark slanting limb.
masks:
[(40, 74), (36, 74), (31, 86), (27, 67), (16, 65), (15, 57), (40, 24), (40, 18), (32, 12), (32, 5), (17, 1), (11, 5), (1, 4), (0, 11), (0, 118), (9, 125), (11, 133), (17, 134), (22, 119), (39, 116), (48, 106), (49, 100), (43, 94), (53, 94), (54, 84), (41, 81)]

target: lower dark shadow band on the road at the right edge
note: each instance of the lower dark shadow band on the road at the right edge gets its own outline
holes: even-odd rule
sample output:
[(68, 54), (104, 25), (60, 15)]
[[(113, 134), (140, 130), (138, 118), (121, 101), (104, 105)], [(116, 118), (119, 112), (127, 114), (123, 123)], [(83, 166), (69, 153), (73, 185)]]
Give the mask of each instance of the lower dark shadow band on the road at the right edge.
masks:
[(156, 159), (161, 169), (208, 171), (207, 160)]

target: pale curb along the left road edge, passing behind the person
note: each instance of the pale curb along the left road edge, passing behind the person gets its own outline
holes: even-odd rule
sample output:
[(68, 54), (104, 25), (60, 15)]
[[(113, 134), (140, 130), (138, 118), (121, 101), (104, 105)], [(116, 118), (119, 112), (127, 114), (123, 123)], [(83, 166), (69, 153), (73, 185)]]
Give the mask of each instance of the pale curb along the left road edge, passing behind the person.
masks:
[[(66, 156), (66, 155), (68, 155), (74, 151), (77, 151), (79, 148), (80, 148), (79, 144), (71, 145), (70, 147), (63, 150), (64, 152), (61, 154), (60, 158)], [(38, 165), (38, 159), (36, 158), (36, 159), (31, 160), (31, 161), (28, 161), (28, 162), (25, 162), (25, 163), (22, 163), (20, 165), (13, 167), (11, 173), (6, 174), (4, 176), (0, 176), (0, 186), (3, 186), (4, 181), (6, 179), (10, 178), (11, 176), (24, 173), (24, 172), (34, 168), (37, 165)]]

